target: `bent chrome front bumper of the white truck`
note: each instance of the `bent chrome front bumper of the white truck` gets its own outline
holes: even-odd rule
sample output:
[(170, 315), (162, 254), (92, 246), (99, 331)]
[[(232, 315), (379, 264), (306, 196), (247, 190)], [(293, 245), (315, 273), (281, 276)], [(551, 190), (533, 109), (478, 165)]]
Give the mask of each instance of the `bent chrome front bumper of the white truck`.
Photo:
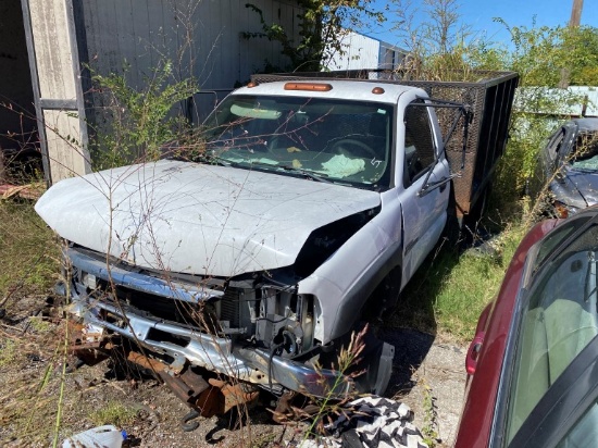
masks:
[(163, 322), (135, 311), (125, 303), (108, 303), (91, 298), (74, 298), (72, 306), (72, 312), (83, 316), (86, 325), (105, 328), (171, 357), (173, 365), (183, 366), (189, 361), (192, 365), (265, 388), (272, 385), (273, 391), (284, 386), (316, 397), (344, 397), (353, 390), (352, 379), (338, 372), (311, 368), (260, 348), (234, 347), (228, 338), (208, 335), (190, 326)]

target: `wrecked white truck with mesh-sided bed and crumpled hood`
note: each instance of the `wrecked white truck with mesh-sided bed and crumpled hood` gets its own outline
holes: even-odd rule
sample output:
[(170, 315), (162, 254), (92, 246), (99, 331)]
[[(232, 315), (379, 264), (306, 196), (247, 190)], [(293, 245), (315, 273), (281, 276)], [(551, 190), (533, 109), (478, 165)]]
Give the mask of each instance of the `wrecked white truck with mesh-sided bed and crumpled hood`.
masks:
[(232, 406), (231, 387), (234, 403), (259, 388), (382, 394), (393, 346), (367, 333), (356, 377), (339, 349), (483, 196), (516, 80), (494, 73), (434, 99), (443, 83), (264, 76), (177, 151), (192, 161), (52, 186), (36, 210), (68, 242), (80, 349), (121, 345), (204, 414)]

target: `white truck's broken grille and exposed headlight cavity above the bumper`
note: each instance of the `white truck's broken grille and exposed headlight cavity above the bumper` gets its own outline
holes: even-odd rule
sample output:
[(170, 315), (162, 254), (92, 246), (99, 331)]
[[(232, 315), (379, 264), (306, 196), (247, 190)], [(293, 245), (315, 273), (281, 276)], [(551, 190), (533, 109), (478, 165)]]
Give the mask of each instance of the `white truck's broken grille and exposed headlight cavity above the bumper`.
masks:
[[(294, 358), (313, 346), (314, 304), (311, 296), (299, 296), (296, 286), (223, 287), (224, 282), (197, 284), (164, 281), (155, 273), (148, 275), (121, 264), (107, 269), (96, 257), (72, 250), (73, 299), (86, 307), (78, 314), (92, 314), (100, 325), (125, 329), (127, 320), (138, 318), (160, 322), (169, 328), (201, 333), (239, 343), (274, 349), (281, 356)], [(217, 286), (215, 286), (217, 284)], [(223, 290), (224, 289), (224, 290)], [(158, 294), (155, 294), (158, 293)], [(79, 308), (80, 308), (79, 307)], [(126, 319), (124, 319), (126, 318)], [(144, 324), (145, 325), (145, 324)], [(154, 326), (153, 326), (154, 327)], [(165, 334), (162, 340), (177, 346), (186, 344)], [(155, 335), (154, 335), (155, 334)]]

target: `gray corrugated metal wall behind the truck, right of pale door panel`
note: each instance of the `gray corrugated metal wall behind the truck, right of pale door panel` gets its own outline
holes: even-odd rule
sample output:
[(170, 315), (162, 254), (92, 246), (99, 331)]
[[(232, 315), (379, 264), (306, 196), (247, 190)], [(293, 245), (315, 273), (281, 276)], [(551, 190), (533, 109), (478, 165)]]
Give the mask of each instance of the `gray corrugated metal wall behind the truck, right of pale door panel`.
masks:
[[(86, 49), (90, 65), (101, 74), (121, 72), (130, 64), (134, 87), (161, 61), (170, 60), (180, 78), (195, 76), (202, 88), (233, 88), (249, 75), (288, 61), (281, 46), (265, 38), (245, 39), (259, 33), (258, 14), (248, 0), (83, 0)], [(267, 22), (295, 29), (300, 10), (290, 2), (252, 0)]]

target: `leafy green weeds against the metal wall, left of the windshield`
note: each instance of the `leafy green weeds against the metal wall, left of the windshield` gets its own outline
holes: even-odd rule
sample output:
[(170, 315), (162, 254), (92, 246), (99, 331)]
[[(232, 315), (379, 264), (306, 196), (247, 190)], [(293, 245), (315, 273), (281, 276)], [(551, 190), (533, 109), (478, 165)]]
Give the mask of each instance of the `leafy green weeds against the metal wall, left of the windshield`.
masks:
[(157, 160), (162, 147), (188, 130), (185, 116), (174, 111), (177, 103), (196, 91), (192, 78), (175, 80), (171, 62), (161, 63), (145, 79), (142, 90), (130, 87), (123, 74), (95, 74), (96, 90), (108, 108), (104, 126), (98, 126), (90, 144), (95, 170)]

